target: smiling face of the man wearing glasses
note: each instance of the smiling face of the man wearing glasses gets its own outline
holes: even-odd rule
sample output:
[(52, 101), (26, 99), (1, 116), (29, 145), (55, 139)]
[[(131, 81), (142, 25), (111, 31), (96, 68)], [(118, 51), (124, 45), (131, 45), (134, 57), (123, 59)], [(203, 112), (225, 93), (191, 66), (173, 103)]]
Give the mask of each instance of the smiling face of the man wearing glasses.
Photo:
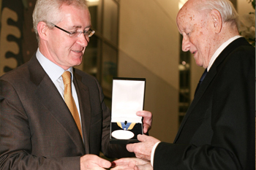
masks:
[[(61, 22), (54, 24), (66, 31), (89, 31), (91, 27), (91, 17), (88, 9), (63, 5), (61, 16), (63, 17)], [(86, 39), (83, 34), (78, 37), (70, 37), (68, 33), (55, 27), (49, 30), (48, 58), (65, 70), (71, 66), (78, 66), (82, 63), (83, 53), (88, 43), (89, 38)]]

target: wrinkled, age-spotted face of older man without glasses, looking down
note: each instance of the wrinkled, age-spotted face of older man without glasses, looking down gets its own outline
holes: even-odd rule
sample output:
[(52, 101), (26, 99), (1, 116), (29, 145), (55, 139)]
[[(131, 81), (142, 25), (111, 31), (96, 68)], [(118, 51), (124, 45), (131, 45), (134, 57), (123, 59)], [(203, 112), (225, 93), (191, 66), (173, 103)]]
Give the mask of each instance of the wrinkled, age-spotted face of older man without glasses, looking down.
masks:
[(206, 12), (192, 10), (192, 3), (187, 3), (178, 12), (176, 22), (182, 34), (182, 50), (194, 55), (197, 66), (207, 68), (214, 54), (214, 32), (212, 32), (209, 15)]

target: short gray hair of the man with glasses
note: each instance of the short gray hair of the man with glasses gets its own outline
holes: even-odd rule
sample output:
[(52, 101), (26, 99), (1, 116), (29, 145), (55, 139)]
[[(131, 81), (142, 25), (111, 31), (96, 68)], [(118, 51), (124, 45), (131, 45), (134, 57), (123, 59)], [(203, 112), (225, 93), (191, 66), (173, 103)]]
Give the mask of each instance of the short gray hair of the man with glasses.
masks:
[(45, 22), (49, 28), (53, 28), (49, 23), (57, 24), (61, 22), (61, 6), (63, 4), (72, 5), (79, 9), (88, 9), (86, 0), (37, 0), (33, 12), (33, 27), (39, 42), (37, 24)]

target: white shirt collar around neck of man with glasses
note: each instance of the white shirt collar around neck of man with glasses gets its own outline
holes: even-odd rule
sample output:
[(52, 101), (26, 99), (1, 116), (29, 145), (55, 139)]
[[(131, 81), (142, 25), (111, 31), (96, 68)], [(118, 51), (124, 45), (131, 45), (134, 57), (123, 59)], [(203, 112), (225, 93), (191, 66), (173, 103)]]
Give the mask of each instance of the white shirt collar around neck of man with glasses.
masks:
[(71, 77), (72, 77), (72, 81), (73, 81), (73, 68), (72, 67), (69, 67), (69, 69), (67, 69), (67, 70), (62, 69), (60, 66), (56, 65), (56, 63), (53, 63), (48, 58), (46, 58), (44, 55), (42, 55), (42, 53), (39, 51), (39, 48), (37, 49), (36, 55), (37, 55), (37, 60), (41, 64), (42, 68), (45, 70), (46, 74), (48, 74), (48, 76), (50, 77), (50, 80), (55, 82), (56, 80), (58, 80), (61, 77), (61, 75), (65, 71), (69, 71), (69, 72), (71, 72)]

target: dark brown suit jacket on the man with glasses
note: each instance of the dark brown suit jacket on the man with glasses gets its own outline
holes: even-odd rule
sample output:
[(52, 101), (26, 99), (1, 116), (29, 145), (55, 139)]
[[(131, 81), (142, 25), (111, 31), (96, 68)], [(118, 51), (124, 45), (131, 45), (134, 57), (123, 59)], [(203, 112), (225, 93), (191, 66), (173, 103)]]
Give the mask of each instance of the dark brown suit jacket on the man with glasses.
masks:
[(110, 144), (110, 110), (94, 77), (74, 69), (83, 139), (35, 55), (0, 78), (0, 169), (80, 169), (85, 154), (131, 156)]

